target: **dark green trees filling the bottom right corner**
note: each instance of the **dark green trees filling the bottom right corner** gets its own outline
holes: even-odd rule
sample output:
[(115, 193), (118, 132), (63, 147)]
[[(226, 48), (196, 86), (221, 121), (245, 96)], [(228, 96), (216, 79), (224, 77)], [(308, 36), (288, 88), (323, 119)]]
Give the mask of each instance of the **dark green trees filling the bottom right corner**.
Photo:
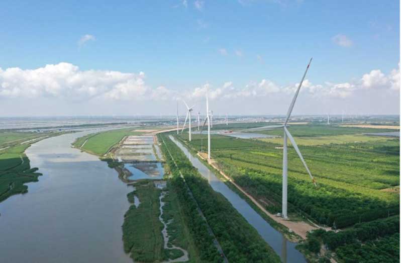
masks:
[(345, 231), (315, 230), (308, 249), (319, 252), (321, 243), (345, 263), (399, 262), (399, 216), (356, 224)]

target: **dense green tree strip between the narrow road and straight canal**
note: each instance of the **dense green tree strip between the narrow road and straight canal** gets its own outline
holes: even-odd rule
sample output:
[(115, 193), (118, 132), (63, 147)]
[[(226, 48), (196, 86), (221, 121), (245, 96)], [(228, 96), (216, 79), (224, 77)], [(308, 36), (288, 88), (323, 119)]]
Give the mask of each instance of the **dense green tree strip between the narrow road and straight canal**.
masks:
[[(231, 262), (279, 262), (279, 257), (257, 231), (232, 207), (220, 193), (215, 192), (192, 166), (183, 152), (165, 135), (166, 147), (173, 155), (193, 197)], [(165, 147), (163, 146), (163, 150)], [(167, 162), (171, 162), (167, 158)], [(172, 171), (173, 165), (169, 165)]]

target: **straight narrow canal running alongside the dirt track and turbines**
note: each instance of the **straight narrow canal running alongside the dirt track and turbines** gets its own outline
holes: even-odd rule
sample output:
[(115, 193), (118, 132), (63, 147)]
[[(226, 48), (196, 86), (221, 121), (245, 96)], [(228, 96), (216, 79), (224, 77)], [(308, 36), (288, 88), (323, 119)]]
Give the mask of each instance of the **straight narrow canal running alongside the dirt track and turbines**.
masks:
[(238, 210), (238, 212), (251, 224), (263, 237), (263, 239), (274, 249), (281, 257), (284, 263), (303, 263), (306, 259), (302, 253), (295, 249), (296, 243), (288, 241), (279, 231), (269, 225), (249, 204), (238, 194), (233, 192), (220, 181), (205, 164), (196, 156), (192, 155), (179, 141), (173, 136), (169, 138), (184, 152), (184, 154), (196, 167), (203, 177), (208, 179), (211, 187), (221, 194)]

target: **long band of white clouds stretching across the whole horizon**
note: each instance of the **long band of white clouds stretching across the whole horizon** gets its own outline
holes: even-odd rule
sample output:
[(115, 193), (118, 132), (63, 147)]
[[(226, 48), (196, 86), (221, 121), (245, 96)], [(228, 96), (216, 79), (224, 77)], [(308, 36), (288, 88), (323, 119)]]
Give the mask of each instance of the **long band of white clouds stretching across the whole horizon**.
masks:
[[(398, 96), (399, 68), (388, 74), (379, 69), (363, 74), (349, 82), (313, 83), (305, 79), (301, 92), (310, 98), (345, 99), (356, 93), (388, 93)], [(207, 83), (184, 91), (169, 89), (164, 85), (150, 87), (144, 72), (124, 73), (110, 70), (80, 70), (78, 66), (61, 62), (36, 69), (18, 67), (0, 68), (0, 100), (21, 98), (60, 98), (64, 101), (107, 100), (107, 101), (171, 101), (176, 99), (201, 100), (209, 89), (211, 100), (243, 100), (261, 97), (285, 97), (293, 94), (298, 83), (279, 85), (263, 78), (235, 86), (226, 81), (220, 86)], [(372, 93), (373, 94), (373, 93)], [(374, 93), (376, 94), (376, 93)], [(278, 98), (278, 97), (277, 97)]]

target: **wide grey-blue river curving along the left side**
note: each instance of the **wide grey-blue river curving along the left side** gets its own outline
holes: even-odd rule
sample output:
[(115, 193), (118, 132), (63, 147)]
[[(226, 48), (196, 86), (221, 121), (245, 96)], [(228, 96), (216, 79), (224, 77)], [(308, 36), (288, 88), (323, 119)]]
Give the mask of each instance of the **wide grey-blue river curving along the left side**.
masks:
[(123, 262), (121, 225), (130, 204), (117, 171), (71, 142), (98, 130), (44, 139), (26, 151), (43, 176), (0, 203), (0, 261)]

